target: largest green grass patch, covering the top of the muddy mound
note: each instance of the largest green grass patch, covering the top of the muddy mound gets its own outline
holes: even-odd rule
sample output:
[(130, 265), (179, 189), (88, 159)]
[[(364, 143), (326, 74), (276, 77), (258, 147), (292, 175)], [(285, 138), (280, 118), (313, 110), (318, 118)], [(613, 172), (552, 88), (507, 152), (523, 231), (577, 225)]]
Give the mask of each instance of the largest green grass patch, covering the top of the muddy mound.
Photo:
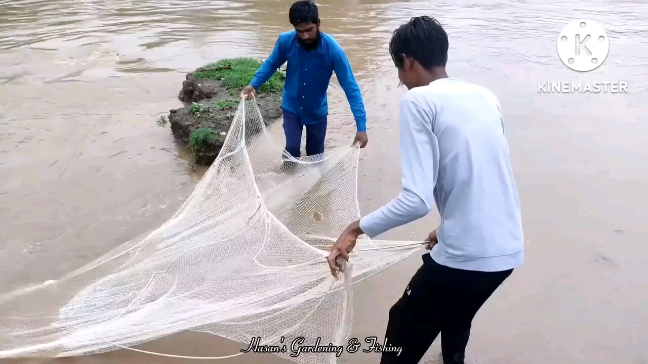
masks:
[[(194, 77), (198, 80), (220, 80), (220, 84), (227, 92), (240, 93), (249, 85), (260, 65), (261, 62), (254, 58), (225, 58), (205, 65), (200, 71), (194, 73)], [(282, 93), (285, 80), (285, 76), (277, 71), (261, 85), (258, 92)]]

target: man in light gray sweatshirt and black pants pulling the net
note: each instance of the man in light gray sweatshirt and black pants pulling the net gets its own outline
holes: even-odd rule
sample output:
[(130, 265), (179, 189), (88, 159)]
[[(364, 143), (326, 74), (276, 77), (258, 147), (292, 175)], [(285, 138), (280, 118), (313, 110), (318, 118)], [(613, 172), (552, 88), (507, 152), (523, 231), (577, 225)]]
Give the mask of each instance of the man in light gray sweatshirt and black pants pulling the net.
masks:
[(389, 310), (386, 339), (402, 352), (382, 364), (418, 363), (441, 333), (444, 364), (461, 364), (474, 315), (524, 260), (520, 202), (497, 97), (445, 71), (448, 36), (433, 18), (395, 30), (389, 51), (408, 88), (400, 104), (402, 190), (351, 223), (329, 255), (332, 275), (361, 234), (370, 238), (426, 216), (441, 223), (423, 264)]

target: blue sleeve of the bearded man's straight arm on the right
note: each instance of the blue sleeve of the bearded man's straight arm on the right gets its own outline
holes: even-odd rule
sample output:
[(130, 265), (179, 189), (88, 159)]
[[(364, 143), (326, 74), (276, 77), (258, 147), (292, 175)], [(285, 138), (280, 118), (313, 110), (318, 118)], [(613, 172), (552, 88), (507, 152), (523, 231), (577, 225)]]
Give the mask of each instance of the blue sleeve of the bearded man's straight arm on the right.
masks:
[(349, 60), (341, 48), (338, 48), (333, 56), (333, 70), (345, 95), (347, 95), (347, 100), (349, 100), (349, 106), (351, 106), (351, 112), (353, 113), (353, 118), (356, 120), (358, 131), (367, 131), (367, 115), (365, 114), (364, 104), (362, 103), (360, 87), (358, 87), (358, 82), (356, 82), (353, 76)]

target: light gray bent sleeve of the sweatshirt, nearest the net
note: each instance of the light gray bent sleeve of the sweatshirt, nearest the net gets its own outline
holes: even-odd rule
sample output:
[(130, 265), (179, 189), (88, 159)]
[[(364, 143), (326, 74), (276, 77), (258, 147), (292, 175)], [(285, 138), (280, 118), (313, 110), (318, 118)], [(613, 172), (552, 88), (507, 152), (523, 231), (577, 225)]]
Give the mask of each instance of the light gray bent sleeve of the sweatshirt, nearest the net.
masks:
[(434, 110), (406, 96), (400, 106), (402, 188), (396, 198), (360, 219), (360, 229), (373, 238), (426, 216), (434, 207), (439, 173), (439, 144), (432, 131)]

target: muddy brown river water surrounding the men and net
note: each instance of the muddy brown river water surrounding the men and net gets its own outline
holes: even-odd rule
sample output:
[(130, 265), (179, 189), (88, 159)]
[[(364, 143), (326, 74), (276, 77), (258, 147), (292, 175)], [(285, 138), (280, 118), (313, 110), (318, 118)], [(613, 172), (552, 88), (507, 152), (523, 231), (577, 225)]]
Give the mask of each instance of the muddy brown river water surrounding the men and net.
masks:
[[(203, 170), (190, 168), (168, 124), (156, 120), (181, 106), (181, 82), (195, 67), (229, 56), (265, 58), (277, 33), (290, 29), (290, 3), (0, 0), (0, 291), (56, 279), (167, 220)], [(405, 90), (397, 87), (387, 48), (395, 27), (411, 16), (437, 17), (450, 36), (448, 73), (500, 97), (526, 264), (478, 313), (469, 363), (648, 363), (648, 3), (319, 6), (322, 30), (347, 52), (367, 108), (363, 212), (400, 187), (397, 124)], [(607, 60), (589, 73), (566, 68), (556, 52), (561, 28), (580, 18), (599, 22), (610, 39)], [(628, 93), (538, 93), (538, 82), (627, 82)], [(351, 142), (353, 117), (335, 78), (329, 92), (328, 143)], [(384, 237), (424, 238), (437, 218)], [(389, 307), (420, 262), (415, 254), (356, 286), (353, 336), (384, 334)], [(185, 356), (238, 350), (198, 334), (144, 347)], [(435, 343), (426, 362), (437, 362), (439, 350)], [(271, 361), (278, 360), (250, 354), (208, 362)], [(376, 354), (340, 361), (378, 362)], [(21, 362), (194, 361), (119, 350)]]

